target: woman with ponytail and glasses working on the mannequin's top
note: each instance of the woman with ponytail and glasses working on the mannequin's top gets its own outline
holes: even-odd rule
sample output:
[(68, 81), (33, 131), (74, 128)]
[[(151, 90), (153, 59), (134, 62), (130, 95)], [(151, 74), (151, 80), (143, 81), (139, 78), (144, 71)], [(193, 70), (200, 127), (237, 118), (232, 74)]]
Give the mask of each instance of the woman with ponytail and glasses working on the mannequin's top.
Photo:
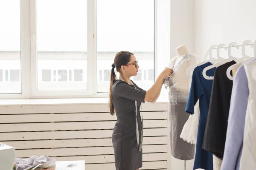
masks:
[[(116, 79), (114, 68), (120, 74), (119, 79)], [(112, 134), (116, 170), (139, 170), (142, 167), (143, 122), (140, 105), (145, 101), (155, 102), (164, 78), (172, 74), (172, 69), (166, 68), (154, 85), (145, 91), (130, 80), (130, 77), (137, 75), (138, 68), (134, 54), (128, 51), (117, 53), (112, 64), (109, 107), (111, 115), (116, 111), (117, 116)]]

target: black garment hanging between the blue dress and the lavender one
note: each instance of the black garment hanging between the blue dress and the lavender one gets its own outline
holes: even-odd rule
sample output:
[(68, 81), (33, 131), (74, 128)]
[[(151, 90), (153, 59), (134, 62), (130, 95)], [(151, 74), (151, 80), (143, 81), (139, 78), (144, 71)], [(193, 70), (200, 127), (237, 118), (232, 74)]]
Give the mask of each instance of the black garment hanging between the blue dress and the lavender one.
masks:
[(235, 61), (220, 65), (215, 70), (207, 124), (204, 132), (202, 148), (208, 150), (219, 159), (223, 158), (227, 120), (230, 109), (230, 99), (233, 81), (227, 78), (227, 68), (236, 64)]

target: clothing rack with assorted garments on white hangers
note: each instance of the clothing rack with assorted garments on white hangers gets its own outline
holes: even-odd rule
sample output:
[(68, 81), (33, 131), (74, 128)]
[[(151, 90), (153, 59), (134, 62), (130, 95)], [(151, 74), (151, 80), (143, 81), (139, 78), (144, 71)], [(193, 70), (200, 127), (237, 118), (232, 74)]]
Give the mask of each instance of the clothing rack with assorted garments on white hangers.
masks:
[[(245, 46), (248, 47), (248, 45), (250, 50), (254, 51), (247, 51)], [(227, 52), (223, 56), (224, 58), (220, 56), (220, 48), (224, 48)], [(239, 58), (232, 56), (231, 52), (234, 48), (241, 49), (241, 54), (237, 54)], [(212, 55), (213, 49), (217, 50), (215, 57)], [(249, 56), (245, 52), (248, 54), (254, 52), (254, 54)], [(191, 72), (193, 72), (192, 75)], [(253, 91), (254, 83), (256, 83), (254, 81), (254, 79), (256, 80), (256, 41), (253, 43), (246, 40), (242, 44), (231, 42), (227, 45), (211, 45), (205, 55), (204, 62), (191, 65), (187, 68), (186, 74), (187, 77), (192, 78), (192, 83), (185, 112), (195, 113), (195, 103), (199, 100), (199, 105), (202, 107), (199, 108), (200, 113), (198, 114), (207, 118), (207, 120), (196, 120), (198, 121), (196, 122), (198, 123), (197, 131), (205, 130), (205, 133), (197, 133), (196, 146), (202, 147), (196, 148), (193, 168), (212, 170), (213, 163), (214, 168), (221, 169), (223, 163), (220, 160), (222, 160), (225, 165), (224, 169), (228, 169), (230, 165), (233, 166), (231, 169), (236, 169), (238, 163), (240, 163), (239, 158), (241, 158), (240, 167), (245, 167), (240, 169), (250, 169), (252, 164), (256, 167), (254, 159), (248, 159), (248, 157), (253, 158), (251, 153), (256, 153), (252, 151), (253, 147), (251, 147), (250, 141), (255, 135), (253, 133), (255, 126), (246, 127), (246, 125), (252, 125), (256, 122), (255, 115), (253, 115), (254, 117), (251, 116), (251, 108), (255, 105), (253, 105), (253, 102), (249, 102), (249, 100), (254, 101), (255, 98), (253, 97), (256, 94), (256, 91)], [(229, 75), (232, 78), (234, 77), (234, 84)], [(245, 117), (248, 114), (247, 108), (250, 111), (249, 119)], [(252, 119), (250, 119), (251, 117)], [(220, 119), (221, 127), (218, 125)], [(246, 131), (246, 129), (249, 130)], [(244, 134), (249, 134), (250, 138), (244, 138)], [(241, 140), (241, 138), (243, 139)], [(234, 145), (237, 145), (237, 147), (234, 147)], [(246, 149), (241, 152), (244, 147)], [(224, 152), (224, 150), (227, 151)], [(236, 151), (232, 152), (233, 150)], [(212, 156), (215, 157), (212, 158)], [(253, 156), (256, 157), (256, 154)], [(202, 162), (206, 162), (206, 164), (203, 165)], [(186, 164), (184, 162), (185, 168)]]

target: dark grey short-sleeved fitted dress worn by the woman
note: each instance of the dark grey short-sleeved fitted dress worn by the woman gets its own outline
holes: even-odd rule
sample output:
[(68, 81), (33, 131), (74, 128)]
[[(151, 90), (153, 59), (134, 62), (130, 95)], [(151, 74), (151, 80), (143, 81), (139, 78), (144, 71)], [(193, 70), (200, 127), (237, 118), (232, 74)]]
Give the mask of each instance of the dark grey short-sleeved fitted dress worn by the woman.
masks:
[(145, 94), (146, 91), (135, 83), (129, 85), (122, 80), (116, 80), (113, 84), (112, 99), (117, 120), (113, 128), (112, 143), (116, 170), (137, 170), (142, 167), (142, 151), (139, 152), (139, 147), (136, 147), (135, 100), (137, 101), (139, 139), (141, 139), (140, 105), (144, 102)]

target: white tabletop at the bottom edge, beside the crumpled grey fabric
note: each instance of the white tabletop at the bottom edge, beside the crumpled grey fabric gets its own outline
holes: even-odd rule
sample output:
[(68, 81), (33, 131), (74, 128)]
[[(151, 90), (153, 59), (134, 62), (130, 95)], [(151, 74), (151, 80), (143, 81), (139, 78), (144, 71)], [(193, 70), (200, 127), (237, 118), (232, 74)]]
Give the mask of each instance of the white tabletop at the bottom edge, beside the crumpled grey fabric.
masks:
[(56, 161), (56, 170), (84, 170), (84, 161)]

